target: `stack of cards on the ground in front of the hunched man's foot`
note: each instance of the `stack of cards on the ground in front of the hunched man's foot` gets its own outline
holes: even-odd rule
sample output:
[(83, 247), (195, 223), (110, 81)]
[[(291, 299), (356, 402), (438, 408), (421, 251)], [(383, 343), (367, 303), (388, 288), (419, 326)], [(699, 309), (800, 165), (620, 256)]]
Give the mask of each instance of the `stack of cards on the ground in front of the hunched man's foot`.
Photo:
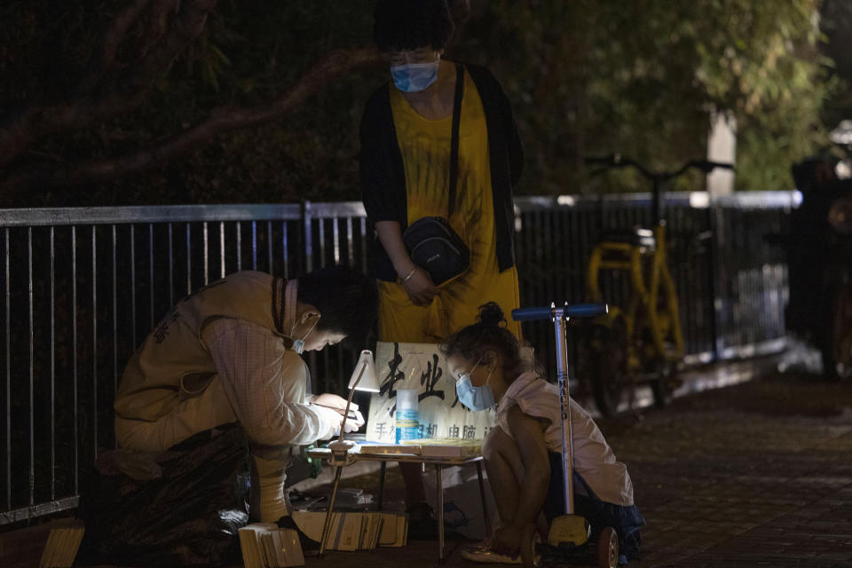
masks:
[(304, 566), (299, 533), (274, 523), (254, 523), (240, 529), (240, 548), (245, 568)]

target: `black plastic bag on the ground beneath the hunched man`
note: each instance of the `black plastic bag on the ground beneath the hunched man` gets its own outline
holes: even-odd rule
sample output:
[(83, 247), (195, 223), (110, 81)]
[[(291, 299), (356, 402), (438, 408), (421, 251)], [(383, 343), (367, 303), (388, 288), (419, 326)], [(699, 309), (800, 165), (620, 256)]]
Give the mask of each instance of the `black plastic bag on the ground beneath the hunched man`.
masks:
[(236, 426), (218, 435), (201, 432), (169, 452), (102, 454), (80, 498), (79, 516), (86, 522), (80, 559), (146, 566), (241, 564), (238, 530), (248, 523), (250, 463), (248, 439)]

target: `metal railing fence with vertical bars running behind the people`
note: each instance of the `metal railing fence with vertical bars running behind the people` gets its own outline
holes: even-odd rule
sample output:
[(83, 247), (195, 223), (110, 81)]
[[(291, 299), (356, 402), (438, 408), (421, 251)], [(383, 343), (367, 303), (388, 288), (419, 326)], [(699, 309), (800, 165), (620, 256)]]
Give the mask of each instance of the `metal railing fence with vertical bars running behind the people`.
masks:
[[(693, 360), (777, 346), (785, 335), (783, 231), (796, 193), (706, 193), (667, 200), (671, 258)], [(516, 201), (522, 304), (580, 302), (601, 231), (650, 221), (646, 194)], [(289, 277), (328, 264), (367, 270), (359, 202), (0, 209), (0, 373), (4, 456), (0, 525), (77, 505), (99, 447), (114, 445), (112, 401), (124, 362), (195, 288), (244, 269)], [(618, 303), (627, 282), (604, 281)], [(548, 356), (543, 323), (525, 338)], [(356, 353), (311, 353), (316, 390), (336, 390)]]

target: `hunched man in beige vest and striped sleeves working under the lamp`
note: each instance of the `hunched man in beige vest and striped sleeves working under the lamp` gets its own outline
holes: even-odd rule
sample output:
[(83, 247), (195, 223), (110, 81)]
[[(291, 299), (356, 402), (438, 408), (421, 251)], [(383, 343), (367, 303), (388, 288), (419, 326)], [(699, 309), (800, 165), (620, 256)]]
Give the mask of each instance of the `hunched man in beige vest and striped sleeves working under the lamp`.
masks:
[(127, 364), (115, 397), (118, 445), (163, 452), (236, 422), (255, 465), (251, 516), (278, 520), (288, 514), (291, 455), (335, 436), (343, 416), (329, 406), (346, 406), (309, 394), (300, 354), (366, 335), (376, 304), (374, 281), (343, 266), (297, 280), (245, 271), (210, 283), (177, 304)]

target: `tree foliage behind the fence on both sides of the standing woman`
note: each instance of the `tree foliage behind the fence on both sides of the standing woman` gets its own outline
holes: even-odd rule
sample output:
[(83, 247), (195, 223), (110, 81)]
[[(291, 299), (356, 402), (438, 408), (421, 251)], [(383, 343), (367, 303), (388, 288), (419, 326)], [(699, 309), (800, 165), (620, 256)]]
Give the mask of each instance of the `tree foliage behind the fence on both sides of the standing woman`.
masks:
[[(675, 167), (705, 154), (717, 110), (737, 118), (741, 189), (790, 187), (790, 163), (824, 143), (819, 0), (454, 4), (469, 20), (446, 57), (506, 88), (521, 193), (643, 189), (629, 174), (589, 183), (582, 156)], [(387, 78), (372, 7), (5, 2), (0, 203), (358, 199), (360, 113)]]

